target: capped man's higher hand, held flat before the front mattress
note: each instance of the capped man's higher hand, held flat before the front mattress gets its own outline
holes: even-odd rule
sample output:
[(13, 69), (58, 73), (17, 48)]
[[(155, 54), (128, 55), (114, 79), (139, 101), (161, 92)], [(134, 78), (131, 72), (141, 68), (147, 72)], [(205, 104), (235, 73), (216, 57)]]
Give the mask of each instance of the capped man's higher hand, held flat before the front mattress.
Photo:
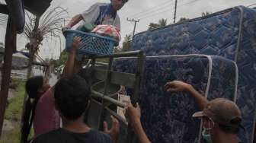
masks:
[(165, 90), (168, 92), (181, 92), (187, 91), (190, 88), (190, 84), (182, 81), (170, 81), (165, 84)]

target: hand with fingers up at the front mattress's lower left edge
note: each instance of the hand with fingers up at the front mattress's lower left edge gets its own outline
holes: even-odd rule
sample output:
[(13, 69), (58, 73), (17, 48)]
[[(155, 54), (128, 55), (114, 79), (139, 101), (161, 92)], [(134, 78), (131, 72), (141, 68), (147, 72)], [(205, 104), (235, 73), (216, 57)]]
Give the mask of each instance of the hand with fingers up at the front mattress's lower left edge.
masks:
[(136, 123), (140, 123), (140, 108), (139, 103), (134, 107), (132, 103), (128, 103), (125, 109), (126, 118), (134, 126)]

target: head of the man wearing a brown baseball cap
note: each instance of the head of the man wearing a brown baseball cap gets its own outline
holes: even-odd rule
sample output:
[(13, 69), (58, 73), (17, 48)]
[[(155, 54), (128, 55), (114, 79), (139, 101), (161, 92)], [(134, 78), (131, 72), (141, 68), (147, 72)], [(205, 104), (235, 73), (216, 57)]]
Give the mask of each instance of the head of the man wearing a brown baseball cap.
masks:
[(203, 129), (210, 133), (213, 140), (221, 132), (237, 134), (242, 121), (238, 106), (224, 98), (211, 100), (203, 111), (194, 113), (193, 117), (203, 118)]

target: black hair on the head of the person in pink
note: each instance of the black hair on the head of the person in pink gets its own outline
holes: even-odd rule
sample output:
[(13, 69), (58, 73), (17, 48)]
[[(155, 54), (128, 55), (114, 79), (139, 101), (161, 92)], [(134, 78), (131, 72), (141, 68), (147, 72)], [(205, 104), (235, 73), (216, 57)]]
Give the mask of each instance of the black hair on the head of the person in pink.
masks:
[(34, 76), (28, 78), (26, 81), (26, 91), (28, 97), (35, 99), (37, 98), (38, 91), (43, 87), (43, 76)]

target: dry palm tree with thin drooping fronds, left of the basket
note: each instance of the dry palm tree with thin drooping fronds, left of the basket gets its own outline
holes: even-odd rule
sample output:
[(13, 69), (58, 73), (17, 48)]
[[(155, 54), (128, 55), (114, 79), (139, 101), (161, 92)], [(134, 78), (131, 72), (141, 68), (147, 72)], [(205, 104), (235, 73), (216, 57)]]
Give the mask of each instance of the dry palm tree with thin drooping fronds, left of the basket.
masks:
[(26, 15), (27, 22), (24, 27), (24, 36), (29, 41), (26, 44), (26, 48), (30, 52), (30, 65), (27, 71), (27, 78), (29, 78), (31, 66), (34, 62), (34, 55), (38, 52), (43, 40), (54, 40), (53, 38), (57, 38), (61, 46), (60, 34), (62, 33), (61, 29), (67, 17), (67, 11), (61, 7), (56, 7), (50, 9), (50, 11), (46, 11), (42, 17), (28, 13)]

